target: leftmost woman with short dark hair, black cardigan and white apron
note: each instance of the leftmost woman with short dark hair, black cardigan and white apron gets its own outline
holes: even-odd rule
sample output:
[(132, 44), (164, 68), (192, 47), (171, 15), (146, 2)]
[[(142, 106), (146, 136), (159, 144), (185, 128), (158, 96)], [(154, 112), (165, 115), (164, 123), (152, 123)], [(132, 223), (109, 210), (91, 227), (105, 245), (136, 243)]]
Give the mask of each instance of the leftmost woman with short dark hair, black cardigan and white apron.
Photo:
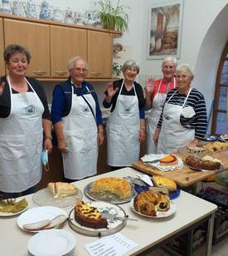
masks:
[(42, 117), (45, 106), (34, 89), (36, 86), (32, 86), (34, 80), (29, 82), (25, 77), (29, 53), (23, 47), (10, 45), (4, 58), (8, 75), (0, 86), (0, 102), (5, 101), (0, 111), (1, 117), (5, 116), (0, 118), (0, 190), (8, 198), (17, 197), (20, 192), (34, 192), (34, 186), (41, 180), (43, 128), (45, 149), (51, 152), (52, 144), (51, 122)]

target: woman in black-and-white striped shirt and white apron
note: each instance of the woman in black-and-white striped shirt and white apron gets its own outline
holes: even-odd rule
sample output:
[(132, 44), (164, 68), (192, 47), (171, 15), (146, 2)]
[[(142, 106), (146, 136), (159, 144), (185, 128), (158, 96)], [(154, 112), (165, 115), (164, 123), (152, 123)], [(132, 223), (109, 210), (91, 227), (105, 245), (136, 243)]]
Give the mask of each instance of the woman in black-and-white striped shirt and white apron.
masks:
[(206, 103), (201, 92), (192, 88), (192, 68), (177, 66), (177, 88), (168, 92), (153, 136), (158, 153), (169, 154), (186, 145), (196, 146), (206, 134)]

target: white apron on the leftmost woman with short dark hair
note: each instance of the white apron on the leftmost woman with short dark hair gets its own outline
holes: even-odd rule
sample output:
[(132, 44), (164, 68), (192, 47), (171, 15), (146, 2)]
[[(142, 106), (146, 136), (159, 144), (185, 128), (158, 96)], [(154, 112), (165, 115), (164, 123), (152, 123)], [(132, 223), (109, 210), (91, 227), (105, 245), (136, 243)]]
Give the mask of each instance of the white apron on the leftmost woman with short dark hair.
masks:
[(9, 76), (11, 112), (0, 118), (0, 190), (18, 193), (41, 180), (41, 150), (44, 106), (32, 91), (12, 94)]

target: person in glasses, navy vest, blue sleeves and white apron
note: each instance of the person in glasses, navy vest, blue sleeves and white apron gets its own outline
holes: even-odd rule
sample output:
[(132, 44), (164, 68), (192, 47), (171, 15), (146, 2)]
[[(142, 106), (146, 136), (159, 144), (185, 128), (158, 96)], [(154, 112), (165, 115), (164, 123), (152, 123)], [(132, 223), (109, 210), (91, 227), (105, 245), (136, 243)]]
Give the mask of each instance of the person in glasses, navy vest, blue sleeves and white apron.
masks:
[[(97, 173), (98, 145), (103, 143), (104, 135), (97, 96), (84, 81), (86, 63), (74, 57), (68, 69), (70, 78), (55, 88), (51, 116), (62, 152), (65, 181), (73, 181)], [(62, 91), (65, 96), (60, 98)], [(70, 102), (70, 109), (64, 114)], [(56, 113), (61, 113), (59, 119)]]

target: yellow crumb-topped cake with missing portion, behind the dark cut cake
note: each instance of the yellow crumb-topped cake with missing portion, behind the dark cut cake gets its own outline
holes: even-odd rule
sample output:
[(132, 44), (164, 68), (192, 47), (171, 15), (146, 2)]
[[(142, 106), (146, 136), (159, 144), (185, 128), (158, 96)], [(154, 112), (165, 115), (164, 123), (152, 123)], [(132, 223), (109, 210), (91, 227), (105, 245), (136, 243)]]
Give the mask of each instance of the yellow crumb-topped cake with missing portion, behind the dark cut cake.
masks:
[(113, 193), (120, 199), (128, 199), (131, 195), (129, 181), (120, 178), (101, 178), (93, 182), (91, 191), (94, 193)]

